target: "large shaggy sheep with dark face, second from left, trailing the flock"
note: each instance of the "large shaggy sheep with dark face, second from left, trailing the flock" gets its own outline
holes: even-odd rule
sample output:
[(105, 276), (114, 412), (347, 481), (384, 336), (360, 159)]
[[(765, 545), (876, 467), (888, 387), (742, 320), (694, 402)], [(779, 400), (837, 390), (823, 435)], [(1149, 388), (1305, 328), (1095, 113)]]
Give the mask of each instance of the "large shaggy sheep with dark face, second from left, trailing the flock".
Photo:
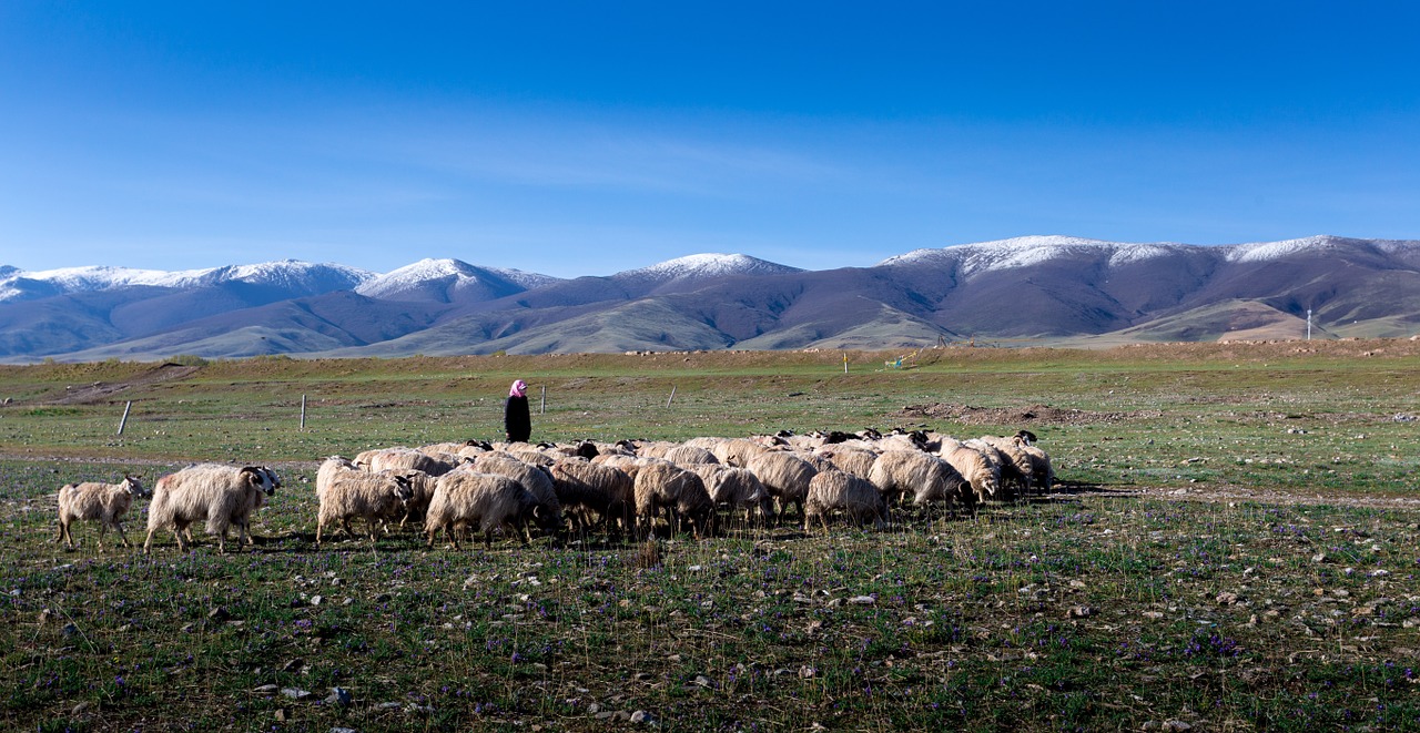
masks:
[(207, 533), (217, 536), (217, 553), (226, 551), (227, 530), (237, 527), (237, 545), (250, 543), (247, 521), (281, 486), (275, 472), (264, 466), (222, 466), (199, 463), (169, 473), (153, 487), (153, 501), (148, 507), (148, 538), (143, 554), (153, 544), (153, 534), (169, 527), (178, 538), (178, 550), (186, 551), (183, 533), (197, 520), (207, 520)]

